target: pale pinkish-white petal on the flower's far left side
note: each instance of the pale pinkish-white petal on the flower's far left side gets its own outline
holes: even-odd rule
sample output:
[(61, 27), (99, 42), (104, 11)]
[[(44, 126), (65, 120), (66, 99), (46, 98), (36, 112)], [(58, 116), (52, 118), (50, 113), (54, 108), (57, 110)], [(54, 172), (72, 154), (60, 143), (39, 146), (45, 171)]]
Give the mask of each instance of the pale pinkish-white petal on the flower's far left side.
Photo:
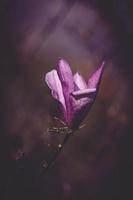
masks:
[(66, 111), (66, 104), (63, 95), (62, 85), (56, 70), (48, 72), (45, 76), (45, 81), (51, 89), (52, 96), (57, 99)]

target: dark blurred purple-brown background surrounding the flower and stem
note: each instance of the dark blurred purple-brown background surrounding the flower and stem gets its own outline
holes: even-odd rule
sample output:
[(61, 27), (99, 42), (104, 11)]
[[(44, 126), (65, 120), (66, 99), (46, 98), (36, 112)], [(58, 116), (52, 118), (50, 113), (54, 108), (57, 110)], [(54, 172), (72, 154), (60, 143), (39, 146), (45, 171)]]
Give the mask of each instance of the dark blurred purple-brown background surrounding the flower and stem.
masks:
[[(1, 200), (133, 199), (132, 10), (132, 0), (1, 0)], [(85, 127), (45, 173), (59, 111), (42, 77), (59, 58), (86, 79), (106, 66)]]

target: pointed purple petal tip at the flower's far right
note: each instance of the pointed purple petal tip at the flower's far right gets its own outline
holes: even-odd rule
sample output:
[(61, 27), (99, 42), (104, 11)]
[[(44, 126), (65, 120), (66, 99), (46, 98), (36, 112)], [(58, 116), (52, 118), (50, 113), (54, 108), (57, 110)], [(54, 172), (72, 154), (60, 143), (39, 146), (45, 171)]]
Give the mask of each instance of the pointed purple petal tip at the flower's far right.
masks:
[(88, 80), (88, 88), (97, 88), (98, 87), (100, 80), (101, 80), (101, 76), (103, 74), (104, 64), (105, 63), (103, 62), (102, 65), (100, 66), (100, 68)]

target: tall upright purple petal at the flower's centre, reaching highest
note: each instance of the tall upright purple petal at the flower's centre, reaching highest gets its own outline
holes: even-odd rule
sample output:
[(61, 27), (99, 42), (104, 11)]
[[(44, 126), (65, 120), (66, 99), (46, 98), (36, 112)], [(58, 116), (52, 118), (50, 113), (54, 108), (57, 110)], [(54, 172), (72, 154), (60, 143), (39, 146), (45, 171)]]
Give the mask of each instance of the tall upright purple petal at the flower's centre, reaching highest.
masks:
[(62, 84), (63, 94), (65, 97), (67, 111), (66, 122), (69, 123), (73, 114), (72, 102), (70, 100), (70, 94), (74, 91), (73, 75), (69, 64), (63, 59), (59, 61), (57, 72)]

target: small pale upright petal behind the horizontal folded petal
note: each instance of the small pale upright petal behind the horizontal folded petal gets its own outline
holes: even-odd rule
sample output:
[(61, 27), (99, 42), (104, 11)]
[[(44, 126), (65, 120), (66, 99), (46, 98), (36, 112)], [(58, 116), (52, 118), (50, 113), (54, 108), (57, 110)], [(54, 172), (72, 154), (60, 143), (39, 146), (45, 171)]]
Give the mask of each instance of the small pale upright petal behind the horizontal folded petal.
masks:
[(74, 74), (73, 79), (74, 79), (75, 85), (77, 86), (79, 90), (87, 88), (87, 84), (84, 78), (78, 72)]

